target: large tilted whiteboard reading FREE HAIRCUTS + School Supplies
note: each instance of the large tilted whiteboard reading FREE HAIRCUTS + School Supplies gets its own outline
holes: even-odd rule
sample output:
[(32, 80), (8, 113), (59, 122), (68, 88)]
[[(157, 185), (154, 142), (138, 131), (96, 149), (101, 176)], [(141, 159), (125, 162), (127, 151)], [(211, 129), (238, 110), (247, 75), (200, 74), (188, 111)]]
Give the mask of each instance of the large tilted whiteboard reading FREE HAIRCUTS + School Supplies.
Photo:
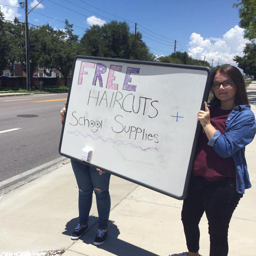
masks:
[(76, 57), (60, 154), (185, 198), (211, 77), (206, 67)]

